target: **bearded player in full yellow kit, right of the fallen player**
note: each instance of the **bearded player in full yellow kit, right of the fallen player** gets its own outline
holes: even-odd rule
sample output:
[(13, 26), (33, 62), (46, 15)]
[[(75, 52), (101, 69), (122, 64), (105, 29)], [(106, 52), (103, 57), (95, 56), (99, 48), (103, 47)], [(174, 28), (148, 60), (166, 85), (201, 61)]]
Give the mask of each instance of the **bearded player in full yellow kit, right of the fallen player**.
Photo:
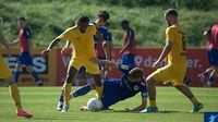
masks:
[(153, 68), (158, 68), (165, 58), (167, 58), (168, 64), (159, 68), (146, 78), (150, 107), (147, 107), (142, 112), (158, 111), (155, 88), (157, 82), (171, 82), (178, 90), (192, 101), (192, 112), (198, 112), (203, 109), (203, 105), (195, 98), (190, 88), (183, 84), (186, 72), (186, 46), (184, 33), (179, 25), (178, 12), (174, 9), (167, 10), (165, 12), (165, 20), (168, 24), (168, 28), (166, 29), (166, 46), (158, 60), (153, 64)]

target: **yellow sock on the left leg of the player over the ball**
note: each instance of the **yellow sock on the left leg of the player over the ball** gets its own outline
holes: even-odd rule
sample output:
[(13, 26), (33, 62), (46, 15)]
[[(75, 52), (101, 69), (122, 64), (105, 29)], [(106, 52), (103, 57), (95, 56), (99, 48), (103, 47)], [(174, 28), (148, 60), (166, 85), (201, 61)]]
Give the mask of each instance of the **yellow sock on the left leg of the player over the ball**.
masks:
[(64, 105), (70, 105), (70, 95), (71, 95), (71, 86), (72, 84), (65, 83), (63, 86), (63, 97), (64, 97)]

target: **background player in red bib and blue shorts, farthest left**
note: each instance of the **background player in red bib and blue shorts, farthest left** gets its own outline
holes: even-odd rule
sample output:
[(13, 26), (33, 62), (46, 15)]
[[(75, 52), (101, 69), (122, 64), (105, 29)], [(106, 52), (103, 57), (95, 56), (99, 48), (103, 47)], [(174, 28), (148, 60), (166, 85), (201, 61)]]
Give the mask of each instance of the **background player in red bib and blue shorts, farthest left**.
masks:
[(32, 59), (32, 41), (31, 41), (31, 29), (26, 24), (25, 17), (17, 19), (17, 25), (20, 26), (19, 38), (15, 39), (10, 45), (16, 45), (20, 42), (20, 56), (17, 58), (14, 80), (19, 81), (19, 76), (22, 73), (22, 68), (26, 68), (26, 71), (34, 76), (35, 82), (38, 86), (44, 86), (43, 81), (38, 77), (38, 74), (33, 70), (33, 59)]

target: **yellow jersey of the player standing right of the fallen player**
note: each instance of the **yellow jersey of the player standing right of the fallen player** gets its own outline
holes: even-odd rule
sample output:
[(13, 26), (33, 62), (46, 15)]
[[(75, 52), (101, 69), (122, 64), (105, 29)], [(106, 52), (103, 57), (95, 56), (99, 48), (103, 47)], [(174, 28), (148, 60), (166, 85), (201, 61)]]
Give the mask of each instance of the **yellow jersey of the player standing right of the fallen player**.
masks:
[(181, 30), (180, 25), (171, 25), (166, 29), (166, 41), (172, 42), (172, 49), (167, 57), (168, 63), (173, 65), (179, 64), (178, 66), (185, 66), (186, 42), (185, 35)]

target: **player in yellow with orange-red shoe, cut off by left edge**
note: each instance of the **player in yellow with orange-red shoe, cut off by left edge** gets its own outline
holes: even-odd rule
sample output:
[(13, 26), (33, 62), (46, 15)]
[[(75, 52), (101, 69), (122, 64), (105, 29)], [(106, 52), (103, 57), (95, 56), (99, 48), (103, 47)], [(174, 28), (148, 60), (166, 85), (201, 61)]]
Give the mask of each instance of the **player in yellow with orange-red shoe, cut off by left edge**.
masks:
[[(2, 44), (7, 48), (10, 54), (10, 48), (4, 38), (2, 26), (3, 26), (3, 21), (0, 19), (0, 44)], [(32, 118), (33, 117), (32, 113), (28, 113), (22, 109), (19, 88), (12, 76), (11, 70), (9, 69), (8, 64), (4, 62), (3, 57), (1, 54), (0, 54), (0, 78), (3, 78), (9, 84), (10, 95), (12, 96), (14, 103), (16, 106), (16, 115)]]

